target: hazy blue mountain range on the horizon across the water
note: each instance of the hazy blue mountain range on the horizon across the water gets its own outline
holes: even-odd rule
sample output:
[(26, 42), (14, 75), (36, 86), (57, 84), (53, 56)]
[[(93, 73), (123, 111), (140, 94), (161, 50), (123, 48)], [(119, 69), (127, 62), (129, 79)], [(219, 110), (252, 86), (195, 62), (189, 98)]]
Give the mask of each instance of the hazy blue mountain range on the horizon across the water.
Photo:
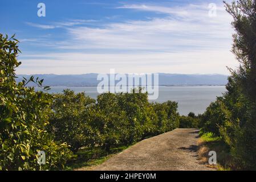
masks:
[[(43, 85), (48, 86), (97, 86), (97, 73), (83, 75), (34, 75), (44, 79)], [(22, 81), (23, 77), (29, 78), (31, 75), (17, 75), (17, 81)], [(108, 75), (109, 76), (109, 75)], [(116, 81), (118, 82), (118, 81)], [(166, 86), (189, 86), (189, 85), (226, 85), (226, 75), (183, 75), (159, 73), (159, 85)]]

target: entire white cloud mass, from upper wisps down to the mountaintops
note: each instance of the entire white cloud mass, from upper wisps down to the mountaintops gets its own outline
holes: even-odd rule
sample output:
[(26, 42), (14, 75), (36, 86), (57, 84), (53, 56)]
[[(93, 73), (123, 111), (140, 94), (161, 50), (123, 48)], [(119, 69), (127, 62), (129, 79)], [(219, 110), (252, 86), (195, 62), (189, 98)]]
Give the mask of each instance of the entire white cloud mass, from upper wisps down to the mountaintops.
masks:
[[(23, 55), (18, 73), (107, 73), (115, 68), (116, 72), (125, 73), (227, 74), (226, 65), (237, 65), (229, 51), (231, 17), (221, 5), (213, 18), (208, 16), (207, 4), (123, 5), (119, 9), (154, 11), (166, 16), (107, 23), (97, 28), (55, 24), (66, 27), (68, 39), (50, 46), (65, 49), (66, 53)], [(81, 53), (85, 51), (88, 53)]]

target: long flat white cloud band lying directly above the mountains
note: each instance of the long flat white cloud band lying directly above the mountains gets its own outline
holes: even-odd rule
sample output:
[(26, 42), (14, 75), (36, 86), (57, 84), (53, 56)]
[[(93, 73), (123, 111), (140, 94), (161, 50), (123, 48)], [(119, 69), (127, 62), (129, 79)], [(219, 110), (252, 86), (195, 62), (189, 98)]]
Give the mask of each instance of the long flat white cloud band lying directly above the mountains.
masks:
[[(229, 51), (176, 53), (48, 53), (23, 55), (18, 73), (83, 74), (108, 73), (222, 73), (226, 65), (235, 67)], [(42, 69), (44, 68), (44, 69)]]

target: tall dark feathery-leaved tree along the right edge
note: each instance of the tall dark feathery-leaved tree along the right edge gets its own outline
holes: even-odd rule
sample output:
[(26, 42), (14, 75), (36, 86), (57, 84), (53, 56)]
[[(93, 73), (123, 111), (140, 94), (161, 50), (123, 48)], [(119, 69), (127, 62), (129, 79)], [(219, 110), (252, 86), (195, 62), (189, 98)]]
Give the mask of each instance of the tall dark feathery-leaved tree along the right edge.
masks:
[(256, 169), (256, 1), (226, 3), (233, 16), (233, 49), (239, 68), (230, 69), (227, 92), (204, 114), (205, 131), (221, 135), (237, 169)]

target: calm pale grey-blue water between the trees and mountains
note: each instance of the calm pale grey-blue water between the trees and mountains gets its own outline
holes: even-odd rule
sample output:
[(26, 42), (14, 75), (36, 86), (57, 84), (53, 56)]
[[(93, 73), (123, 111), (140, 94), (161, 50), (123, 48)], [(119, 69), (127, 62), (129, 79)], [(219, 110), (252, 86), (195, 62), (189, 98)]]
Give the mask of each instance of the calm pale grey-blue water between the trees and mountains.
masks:
[[(64, 89), (74, 90), (75, 93), (86, 92), (92, 98), (96, 98), (96, 86), (51, 86), (50, 93), (61, 93)], [(176, 101), (178, 102), (178, 112), (188, 114), (193, 111), (196, 114), (204, 113), (206, 107), (226, 92), (225, 86), (160, 86), (159, 97), (155, 102)]]

